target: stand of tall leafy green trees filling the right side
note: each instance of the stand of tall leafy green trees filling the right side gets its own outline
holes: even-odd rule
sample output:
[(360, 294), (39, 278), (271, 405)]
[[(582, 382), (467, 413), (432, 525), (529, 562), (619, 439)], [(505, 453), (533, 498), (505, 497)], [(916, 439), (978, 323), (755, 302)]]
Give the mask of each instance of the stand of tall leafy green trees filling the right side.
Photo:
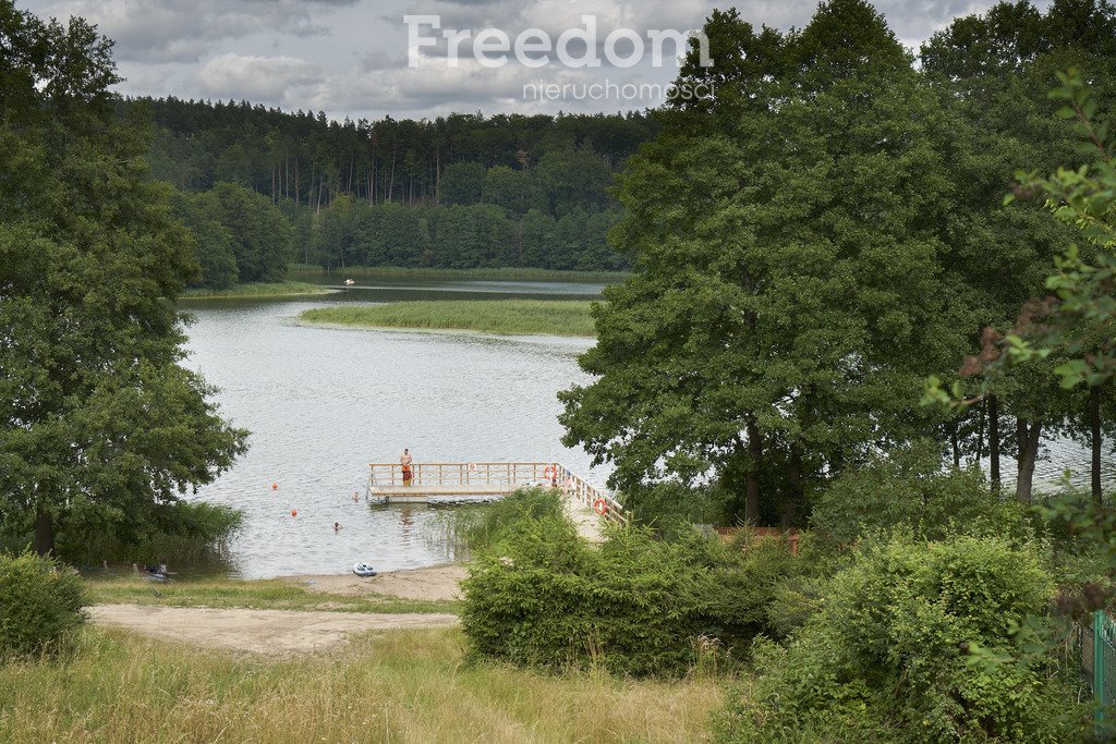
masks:
[(960, 360), (1033, 315), (1080, 240), (1041, 199), (1004, 196), (1019, 171), (1081, 157), (1048, 95), (1059, 70), (1110, 115), (1113, 6), (1001, 2), (917, 57), (863, 0), (787, 33), (719, 11), (705, 32), (718, 65), (691, 55), (677, 83), (715, 78), (715, 97), (656, 112), (619, 176), (615, 242), (636, 271), (597, 311), (597, 381), (564, 394), (567, 444), (612, 462), (637, 508), (664, 482), (713, 484), (720, 519), (786, 524), (834, 476), (925, 441), (953, 465), (990, 460), (997, 489), (1013, 458), (1023, 501), (1051, 436), (1099, 471), (1116, 400), (1064, 388), (1058, 354), (972, 406), (918, 403), (931, 373), (978, 390)]

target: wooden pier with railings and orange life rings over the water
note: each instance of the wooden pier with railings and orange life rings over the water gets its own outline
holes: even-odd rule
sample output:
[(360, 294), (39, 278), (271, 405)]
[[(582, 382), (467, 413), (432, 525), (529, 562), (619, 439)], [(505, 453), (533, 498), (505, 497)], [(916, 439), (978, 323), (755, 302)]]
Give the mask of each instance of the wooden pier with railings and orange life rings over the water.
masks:
[(502, 497), (536, 485), (561, 489), (570, 501), (603, 518), (627, 523), (624, 508), (560, 463), (415, 463), (410, 483), (398, 463), (368, 465), (368, 499), (387, 503), (426, 503), (453, 497)]

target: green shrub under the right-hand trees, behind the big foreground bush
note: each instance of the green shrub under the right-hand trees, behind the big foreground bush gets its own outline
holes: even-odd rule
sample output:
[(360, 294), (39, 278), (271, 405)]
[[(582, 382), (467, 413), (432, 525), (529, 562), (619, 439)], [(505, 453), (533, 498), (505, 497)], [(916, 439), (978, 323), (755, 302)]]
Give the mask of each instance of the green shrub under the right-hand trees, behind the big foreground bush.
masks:
[(822, 492), (810, 522), (839, 545), (896, 530), (927, 540), (1026, 534), (1021, 505), (993, 493), (977, 467), (942, 470), (933, 448), (892, 452), (843, 474)]

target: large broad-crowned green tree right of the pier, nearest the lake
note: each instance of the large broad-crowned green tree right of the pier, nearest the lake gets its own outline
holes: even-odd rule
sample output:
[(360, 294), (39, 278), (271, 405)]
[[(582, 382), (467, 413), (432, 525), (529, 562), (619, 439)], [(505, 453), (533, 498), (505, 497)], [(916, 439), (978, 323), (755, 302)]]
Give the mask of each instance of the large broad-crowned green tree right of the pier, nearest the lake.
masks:
[(790, 521), (810, 482), (934, 424), (918, 370), (964, 347), (937, 263), (952, 141), (866, 3), (822, 3), (780, 47), (714, 20), (715, 46), (759, 60), (712, 112), (665, 112), (620, 177), (636, 274), (596, 309), (598, 379), (561, 395), (565, 441), (622, 491), (713, 477), (747, 520)]

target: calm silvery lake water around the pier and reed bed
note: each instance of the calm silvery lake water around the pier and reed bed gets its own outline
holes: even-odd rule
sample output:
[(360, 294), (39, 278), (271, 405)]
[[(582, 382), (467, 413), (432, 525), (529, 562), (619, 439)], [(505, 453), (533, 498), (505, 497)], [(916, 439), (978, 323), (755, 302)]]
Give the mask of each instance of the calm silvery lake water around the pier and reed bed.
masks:
[[(323, 278), (323, 283), (338, 278)], [(497, 338), (405, 331), (335, 330), (294, 322), (337, 302), (491, 297), (571, 298), (599, 284), (494, 281), (368, 281), (307, 301), (210, 301), (185, 309), (189, 365), (219, 386), (222, 413), (251, 431), (248, 454), (200, 497), (244, 511), (231, 545), (233, 573), (259, 578), (345, 573), (358, 560), (382, 570), (432, 566), (452, 555), (431, 540), (437, 509), (369, 506), (367, 463), (551, 461), (598, 485), (606, 473), (559, 441), (559, 390), (587, 378), (577, 355), (588, 339)], [(1059, 441), (1036, 479), (1066, 467), (1088, 479), (1088, 452)], [(1004, 463), (1010, 471), (1011, 463)], [(1105, 477), (1116, 484), (1116, 460)], [(271, 483), (279, 490), (272, 491)], [(298, 516), (291, 518), (291, 509)], [(334, 533), (334, 522), (343, 530)]]

